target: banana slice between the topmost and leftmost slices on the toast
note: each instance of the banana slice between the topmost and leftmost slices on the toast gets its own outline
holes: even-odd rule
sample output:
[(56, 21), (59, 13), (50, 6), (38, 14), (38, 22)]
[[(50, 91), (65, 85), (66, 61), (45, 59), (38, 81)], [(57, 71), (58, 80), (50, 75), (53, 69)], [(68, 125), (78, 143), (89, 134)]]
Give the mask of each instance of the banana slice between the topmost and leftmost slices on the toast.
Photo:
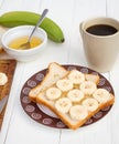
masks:
[(56, 86), (63, 92), (66, 92), (73, 89), (73, 82), (67, 79), (62, 79), (56, 82)]

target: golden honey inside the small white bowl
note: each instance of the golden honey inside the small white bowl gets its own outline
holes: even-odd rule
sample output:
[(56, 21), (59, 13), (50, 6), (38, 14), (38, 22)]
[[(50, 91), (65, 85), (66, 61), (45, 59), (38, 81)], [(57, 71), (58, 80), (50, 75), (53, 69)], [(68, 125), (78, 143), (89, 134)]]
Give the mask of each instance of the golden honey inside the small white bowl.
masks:
[[(14, 40), (12, 40), (10, 43), (9, 43), (9, 47), (11, 49), (17, 49), (17, 50), (20, 50), (20, 45), (23, 44), (23, 43), (26, 43), (28, 42), (28, 39), (29, 39), (29, 35), (24, 35), (24, 37), (19, 37)], [(40, 45), (42, 43), (42, 39), (37, 38), (37, 37), (32, 37), (31, 39), (31, 42), (30, 42), (30, 45), (31, 48), (30, 49), (33, 49), (37, 45)]]

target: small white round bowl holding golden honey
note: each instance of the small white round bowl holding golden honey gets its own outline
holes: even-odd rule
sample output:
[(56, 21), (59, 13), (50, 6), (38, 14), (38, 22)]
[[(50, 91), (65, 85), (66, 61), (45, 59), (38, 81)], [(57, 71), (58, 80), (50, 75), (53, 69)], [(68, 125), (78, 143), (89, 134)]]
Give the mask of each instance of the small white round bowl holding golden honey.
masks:
[(43, 29), (37, 28), (34, 32), (30, 41), (30, 48), (20, 48), (20, 45), (28, 42), (33, 29), (33, 25), (20, 25), (8, 30), (1, 38), (4, 51), (13, 59), (22, 62), (33, 61), (40, 58), (42, 50), (44, 50), (47, 43), (47, 34)]

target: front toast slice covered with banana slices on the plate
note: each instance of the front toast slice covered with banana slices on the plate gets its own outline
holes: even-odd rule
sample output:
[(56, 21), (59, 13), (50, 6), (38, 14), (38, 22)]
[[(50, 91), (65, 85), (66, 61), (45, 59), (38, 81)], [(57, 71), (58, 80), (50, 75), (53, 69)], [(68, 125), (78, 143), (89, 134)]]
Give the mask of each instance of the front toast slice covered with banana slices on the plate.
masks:
[[(71, 73), (72, 71), (68, 72), (64, 78), (57, 80), (55, 84), (40, 92), (36, 96), (36, 102), (42, 103), (45, 106), (47, 106), (50, 110), (52, 110), (69, 128), (76, 130), (79, 126), (82, 126), (88, 119), (95, 115), (98, 111), (113, 104), (115, 97), (107, 90), (97, 88), (96, 84), (99, 79), (98, 76), (96, 75), (94, 76), (91, 74), (88, 75), (88, 80), (87, 80), (87, 75), (84, 74), (85, 80), (76, 84), (75, 82), (69, 80)], [(95, 78), (95, 79), (90, 79), (90, 78)], [(63, 84), (62, 86), (60, 85), (61, 81), (62, 82), (64, 81), (64, 83), (62, 83)], [(69, 84), (66, 81), (68, 81)], [(91, 91), (91, 93), (90, 93), (91, 89), (89, 89), (89, 93), (86, 92), (88, 85), (84, 86), (83, 85), (84, 83), (93, 84), (94, 90)], [(69, 92), (73, 90), (82, 91), (84, 95), (80, 94), (82, 96), (79, 97), (78, 101), (77, 97), (76, 101), (73, 101), (69, 97)], [(105, 93), (104, 99), (100, 99), (102, 95), (98, 97), (97, 93), (99, 94)]]

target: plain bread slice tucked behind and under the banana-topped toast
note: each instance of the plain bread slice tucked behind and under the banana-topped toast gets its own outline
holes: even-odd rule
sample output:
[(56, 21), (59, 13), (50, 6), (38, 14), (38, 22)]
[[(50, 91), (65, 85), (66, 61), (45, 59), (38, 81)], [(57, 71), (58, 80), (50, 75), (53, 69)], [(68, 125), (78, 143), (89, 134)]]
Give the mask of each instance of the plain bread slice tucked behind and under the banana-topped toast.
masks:
[(30, 93), (29, 93), (30, 100), (35, 102), (36, 95), (41, 91), (43, 91), (46, 88), (51, 86), (57, 80), (60, 80), (63, 76), (65, 76), (67, 73), (68, 73), (68, 71), (65, 70), (63, 66), (61, 66), (58, 63), (56, 63), (56, 62), (50, 63), (48, 64), (48, 72), (46, 73), (44, 80), (39, 85), (36, 85), (35, 88), (33, 88), (30, 91)]

